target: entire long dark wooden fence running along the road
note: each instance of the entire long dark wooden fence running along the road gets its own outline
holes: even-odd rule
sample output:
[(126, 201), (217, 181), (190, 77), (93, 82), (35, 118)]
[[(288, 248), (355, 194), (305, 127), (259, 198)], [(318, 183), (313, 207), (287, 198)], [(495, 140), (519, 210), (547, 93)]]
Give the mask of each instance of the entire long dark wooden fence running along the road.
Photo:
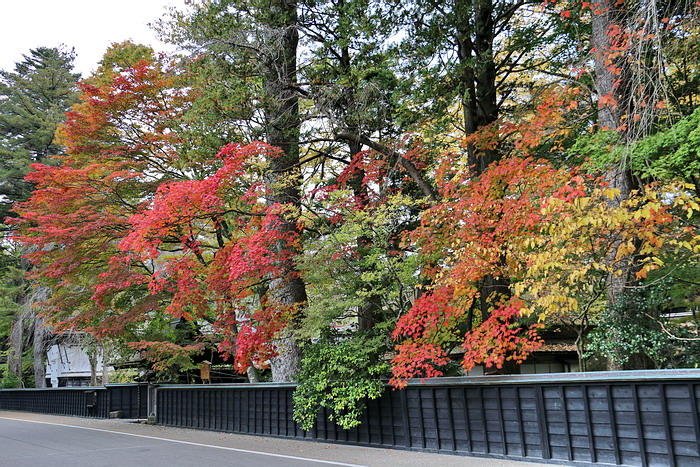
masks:
[[(440, 378), (387, 389), (360, 426), (304, 431), (289, 384), (161, 385), (159, 424), (570, 464), (700, 466), (700, 371)], [(0, 409), (145, 418), (145, 385), (0, 391)]]

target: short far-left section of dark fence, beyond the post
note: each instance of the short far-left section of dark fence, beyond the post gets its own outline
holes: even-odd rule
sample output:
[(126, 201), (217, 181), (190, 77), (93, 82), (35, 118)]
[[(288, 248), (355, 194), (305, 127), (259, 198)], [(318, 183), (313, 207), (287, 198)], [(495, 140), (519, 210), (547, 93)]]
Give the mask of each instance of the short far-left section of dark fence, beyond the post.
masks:
[(119, 411), (123, 418), (146, 418), (147, 384), (0, 390), (0, 409), (107, 418)]

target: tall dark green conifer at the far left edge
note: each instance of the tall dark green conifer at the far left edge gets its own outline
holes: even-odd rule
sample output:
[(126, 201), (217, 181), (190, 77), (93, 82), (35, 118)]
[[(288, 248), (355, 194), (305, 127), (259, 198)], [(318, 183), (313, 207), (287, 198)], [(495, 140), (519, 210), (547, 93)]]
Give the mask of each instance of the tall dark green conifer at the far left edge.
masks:
[[(77, 99), (75, 83), (79, 75), (73, 72), (74, 58), (74, 52), (63, 47), (39, 47), (24, 55), (13, 71), (0, 72), (0, 215), (3, 221), (8, 215), (14, 215), (10, 211), (13, 203), (30, 196), (33, 184), (24, 180), (30, 164), (45, 162), (63, 151), (54, 133), (65, 119), (64, 112)], [(4, 230), (7, 229), (5, 225)], [(37, 317), (34, 304), (41, 302), (48, 291), (31, 288), (18, 275), (19, 271), (29, 268), (28, 263), (20, 259), (21, 254), (16, 245), (3, 249), (6, 267), (2, 280), (6, 287), (15, 290), (10, 295), (15, 304), (15, 319), (10, 333), (8, 370), (22, 379), (22, 349), (31, 340), (34, 379), (37, 387), (43, 387), (44, 352), (51, 332)]]

